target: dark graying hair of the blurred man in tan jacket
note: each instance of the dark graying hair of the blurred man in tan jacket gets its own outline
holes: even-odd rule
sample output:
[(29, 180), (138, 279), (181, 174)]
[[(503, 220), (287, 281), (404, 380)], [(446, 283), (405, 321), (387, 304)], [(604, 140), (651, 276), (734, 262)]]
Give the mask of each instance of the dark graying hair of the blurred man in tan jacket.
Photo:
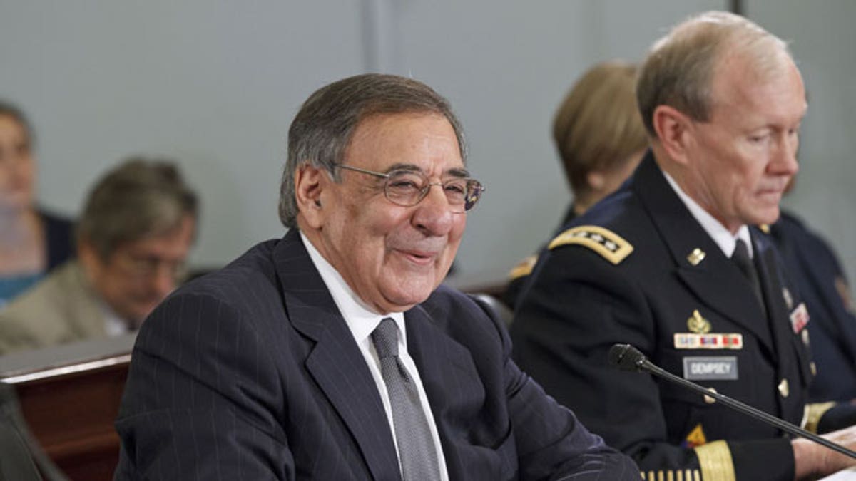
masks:
[(164, 159), (129, 157), (92, 188), (77, 225), (77, 242), (106, 261), (128, 242), (165, 235), (185, 217), (199, 216), (196, 193), (178, 166)]

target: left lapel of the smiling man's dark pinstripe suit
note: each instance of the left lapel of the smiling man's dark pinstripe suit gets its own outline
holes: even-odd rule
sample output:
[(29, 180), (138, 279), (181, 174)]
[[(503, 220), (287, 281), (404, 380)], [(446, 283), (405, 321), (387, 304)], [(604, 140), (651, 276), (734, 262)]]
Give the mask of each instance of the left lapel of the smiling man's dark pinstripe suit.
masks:
[(297, 229), (276, 245), (273, 258), (289, 320), (315, 341), (307, 371), (348, 426), (373, 478), (399, 478), (392, 433), (377, 429), (389, 424), (377, 385)]

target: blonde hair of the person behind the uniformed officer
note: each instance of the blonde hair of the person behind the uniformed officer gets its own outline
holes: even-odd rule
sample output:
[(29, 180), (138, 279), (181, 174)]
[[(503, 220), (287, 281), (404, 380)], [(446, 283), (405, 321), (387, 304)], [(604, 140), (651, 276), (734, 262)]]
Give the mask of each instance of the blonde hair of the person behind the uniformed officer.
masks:
[(648, 145), (636, 108), (636, 66), (598, 63), (577, 80), (556, 110), (553, 140), (574, 193), (592, 170), (614, 169)]

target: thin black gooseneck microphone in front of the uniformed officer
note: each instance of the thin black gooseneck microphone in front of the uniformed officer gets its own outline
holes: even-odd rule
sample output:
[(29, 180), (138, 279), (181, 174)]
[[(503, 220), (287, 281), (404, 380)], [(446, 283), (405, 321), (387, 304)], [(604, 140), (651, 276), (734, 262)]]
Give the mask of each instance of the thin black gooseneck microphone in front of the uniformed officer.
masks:
[(737, 411), (738, 413), (743, 413), (752, 418), (759, 419), (769, 425), (776, 426), (782, 431), (793, 434), (794, 436), (805, 437), (805, 439), (817, 442), (818, 444), (823, 444), (823, 446), (826, 446), (829, 449), (833, 449), (841, 454), (845, 454), (856, 459), (856, 452), (841, 446), (841, 444), (836, 444), (835, 442), (829, 441), (829, 439), (825, 439), (821, 436), (817, 436), (816, 434), (812, 434), (809, 431), (805, 431), (799, 426), (792, 425), (788, 423), (788, 421), (778, 419), (776, 416), (764, 413), (764, 411), (761, 411), (760, 409), (731, 399), (727, 395), (721, 395), (713, 389), (706, 389), (696, 383), (687, 381), (687, 379), (684, 379), (683, 377), (675, 376), (671, 372), (652, 363), (650, 360), (645, 358), (645, 354), (640, 353), (639, 349), (631, 346), (630, 344), (615, 344), (615, 346), (609, 347), (609, 355), (607, 359), (609, 359), (610, 365), (615, 365), (615, 367), (621, 369), (621, 371), (650, 372), (651, 374), (662, 377), (671, 383), (680, 384), (681, 386), (696, 391), (699, 394), (710, 396), (716, 401), (721, 402), (723, 405), (734, 409), (734, 411)]

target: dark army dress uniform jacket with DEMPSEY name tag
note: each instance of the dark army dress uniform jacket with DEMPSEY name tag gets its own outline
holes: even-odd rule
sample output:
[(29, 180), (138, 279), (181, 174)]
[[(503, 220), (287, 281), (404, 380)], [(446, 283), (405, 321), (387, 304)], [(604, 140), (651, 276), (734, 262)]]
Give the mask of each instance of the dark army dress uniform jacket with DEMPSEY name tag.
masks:
[(805, 308), (769, 238), (751, 229), (768, 318), (650, 151), (569, 227), (540, 256), (515, 312), (518, 364), (645, 479), (791, 481), (781, 431), (607, 362), (609, 347), (629, 343), (666, 371), (800, 425), (811, 381)]

